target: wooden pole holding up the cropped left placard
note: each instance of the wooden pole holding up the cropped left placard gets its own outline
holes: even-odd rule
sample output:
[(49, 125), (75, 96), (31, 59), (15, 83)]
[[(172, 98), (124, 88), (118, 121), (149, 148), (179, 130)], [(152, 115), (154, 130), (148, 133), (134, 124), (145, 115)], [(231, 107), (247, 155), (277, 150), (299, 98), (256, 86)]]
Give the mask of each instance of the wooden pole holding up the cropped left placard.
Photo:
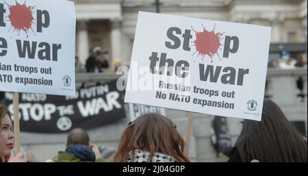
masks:
[(18, 99), (19, 99), (18, 92), (14, 92), (13, 106), (14, 106), (14, 146), (15, 146), (15, 154), (21, 152)]

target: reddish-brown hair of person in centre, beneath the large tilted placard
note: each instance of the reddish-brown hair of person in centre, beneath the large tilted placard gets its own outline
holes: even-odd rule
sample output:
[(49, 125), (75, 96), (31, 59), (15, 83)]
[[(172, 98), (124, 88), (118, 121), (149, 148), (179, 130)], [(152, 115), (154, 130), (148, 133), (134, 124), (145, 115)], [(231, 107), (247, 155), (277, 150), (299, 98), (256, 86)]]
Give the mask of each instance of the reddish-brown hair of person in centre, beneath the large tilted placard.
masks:
[(189, 162), (183, 155), (184, 140), (169, 118), (160, 114), (144, 114), (136, 118), (127, 127), (120, 139), (115, 162), (126, 162), (131, 153), (134, 160), (136, 149), (149, 151), (150, 162), (156, 152), (164, 153), (175, 158), (176, 162)]

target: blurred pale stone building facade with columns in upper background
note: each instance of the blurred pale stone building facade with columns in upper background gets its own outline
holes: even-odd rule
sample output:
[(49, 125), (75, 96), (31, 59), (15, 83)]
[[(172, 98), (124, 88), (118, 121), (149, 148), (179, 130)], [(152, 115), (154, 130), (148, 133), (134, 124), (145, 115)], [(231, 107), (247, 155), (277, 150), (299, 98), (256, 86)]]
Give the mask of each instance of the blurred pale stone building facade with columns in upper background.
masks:
[[(307, 42), (307, 0), (74, 0), (76, 54), (101, 46), (129, 64), (138, 11), (272, 27), (272, 43)], [(158, 7), (157, 7), (158, 6)]]

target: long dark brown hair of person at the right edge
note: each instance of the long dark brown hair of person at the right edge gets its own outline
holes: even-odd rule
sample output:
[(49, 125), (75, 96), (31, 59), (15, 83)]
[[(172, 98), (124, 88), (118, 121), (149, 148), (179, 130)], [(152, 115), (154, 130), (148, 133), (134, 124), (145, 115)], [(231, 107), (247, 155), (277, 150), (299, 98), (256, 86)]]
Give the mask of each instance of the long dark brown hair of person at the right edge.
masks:
[(261, 122), (244, 120), (235, 147), (242, 162), (307, 162), (307, 140), (270, 99), (264, 99)]

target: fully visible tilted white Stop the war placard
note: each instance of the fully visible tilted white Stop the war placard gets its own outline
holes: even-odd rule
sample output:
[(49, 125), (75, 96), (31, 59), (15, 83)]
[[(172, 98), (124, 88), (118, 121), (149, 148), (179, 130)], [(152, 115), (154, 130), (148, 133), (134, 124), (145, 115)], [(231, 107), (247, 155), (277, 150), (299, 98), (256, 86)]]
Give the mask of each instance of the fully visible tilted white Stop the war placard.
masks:
[(139, 12), (125, 102), (261, 120), (270, 27)]

